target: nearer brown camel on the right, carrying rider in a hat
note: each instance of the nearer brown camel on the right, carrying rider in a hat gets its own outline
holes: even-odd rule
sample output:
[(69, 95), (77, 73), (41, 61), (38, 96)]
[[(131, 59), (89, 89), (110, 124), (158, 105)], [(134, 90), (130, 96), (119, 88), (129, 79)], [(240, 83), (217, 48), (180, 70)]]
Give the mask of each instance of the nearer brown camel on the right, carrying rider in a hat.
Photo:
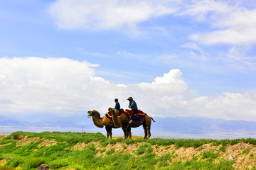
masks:
[[(112, 112), (112, 119), (114, 122), (114, 126), (116, 127), (122, 127), (122, 130), (125, 130), (127, 137), (132, 138), (132, 132), (131, 128), (137, 128), (140, 125), (143, 125), (144, 128), (144, 139), (149, 139), (151, 137), (151, 120), (155, 122), (153, 118), (151, 118), (149, 115), (144, 115), (142, 120), (140, 121), (133, 121), (132, 124), (129, 124), (129, 118), (127, 114), (123, 113), (122, 115), (117, 115), (119, 111), (117, 109), (112, 109), (110, 110)], [(124, 112), (123, 109), (120, 110), (120, 112)]]

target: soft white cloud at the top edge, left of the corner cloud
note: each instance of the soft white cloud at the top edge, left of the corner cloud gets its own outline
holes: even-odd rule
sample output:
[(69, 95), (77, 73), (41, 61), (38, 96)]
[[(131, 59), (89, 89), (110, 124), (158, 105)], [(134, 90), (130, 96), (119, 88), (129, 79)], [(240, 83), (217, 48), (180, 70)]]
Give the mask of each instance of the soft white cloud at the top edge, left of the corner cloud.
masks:
[(134, 27), (152, 17), (174, 13), (174, 1), (58, 0), (50, 6), (59, 28), (110, 30)]

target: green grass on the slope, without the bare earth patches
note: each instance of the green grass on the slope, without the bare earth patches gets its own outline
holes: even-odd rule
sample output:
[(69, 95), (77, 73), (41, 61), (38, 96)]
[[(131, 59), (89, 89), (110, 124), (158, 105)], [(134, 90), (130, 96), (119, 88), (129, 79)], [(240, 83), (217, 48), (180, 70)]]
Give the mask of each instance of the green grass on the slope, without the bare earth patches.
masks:
[[(31, 142), (26, 146), (16, 146), (18, 141), (14, 137), (18, 135), (27, 136), (28, 138), (39, 137), (41, 140), (55, 140), (58, 142), (52, 146), (38, 146), (41, 142)], [(72, 147), (78, 142), (87, 144), (88, 142), (99, 141), (102, 147), (109, 144), (122, 143), (123, 149), (127, 145), (137, 144), (139, 147), (134, 150), (134, 154), (115, 152), (114, 147), (110, 149), (97, 149), (94, 144), (87, 145), (83, 150), (73, 150)], [(238, 142), (246, 142), (255, 145), (255, 139), (238, 139), (238, 140), (174, 140), (153, 138), (150, 140), (136, 139), (125, 140), (117, 138), (107, 140), (102, 133), (78, 133), (78, 132), (14, 132), (3, 140), (0, 140), (0, 160), (6, 158), (7, 164), (0, 167), (0, 170), (11, 170), (17, 167), (26, 170), (35, 170), (40, 164), (48, 164), (51, 169), (233, 169), (234, 162), (220, 161), (213, 163), (213, 159), (219, 157), (219, 152), (203, 152), (200, 156), (195, 156), (191, 160), (183, 162), (173, 162), (176, 157), (175, 152), (166, 153), (161, 157), (156, 157), (153, 152), (155, 147), (162, 146), (169, 149), (169, 145), (179, 147), (195, 147), (198, 150), (203, 149), (202, 145), (212, 143), (213, 145), (223, 145), (220, 152), (225, 152), (225, 145), (235, 145)], [(144, 142), (142, 145), (139, 143)], [(248, 154), (250, 150), (244, 150), (243, 154)], [(102, 156), (96, 156), (97, 153)], [(105, 153), (105, 154), (104, 154)], [(250, 157), (255, 157), (251, 154)]]

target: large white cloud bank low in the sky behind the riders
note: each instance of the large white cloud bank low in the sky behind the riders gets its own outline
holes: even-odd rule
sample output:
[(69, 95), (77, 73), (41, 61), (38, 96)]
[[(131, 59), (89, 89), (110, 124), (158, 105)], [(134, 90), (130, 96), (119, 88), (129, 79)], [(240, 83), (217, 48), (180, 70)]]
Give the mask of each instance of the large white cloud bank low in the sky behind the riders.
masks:
[(171, 69), (151, 83), (113, 84), (95, 75), (97, 64), (66, 58), (5, 57), (0, 58), (0, 65), (0, 115), (75, 116), (90, 109), (106, 113), (114, 106), (114, 98), (127, 108), (127, 97), (133, 96), (139, 108), (151, 116), (256, 120), (256, 90), (193, 97), (179, 69)]

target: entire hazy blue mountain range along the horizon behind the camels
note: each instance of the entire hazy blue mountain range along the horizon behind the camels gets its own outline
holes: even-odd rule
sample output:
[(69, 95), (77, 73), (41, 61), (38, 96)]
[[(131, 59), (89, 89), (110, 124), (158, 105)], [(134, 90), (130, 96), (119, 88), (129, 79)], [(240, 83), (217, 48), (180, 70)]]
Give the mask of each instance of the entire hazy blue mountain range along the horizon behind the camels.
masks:
[[(78, 120), (84, 120), (84, 125), (77, 123)], [(151, 134), (154, 137), (225, 137), (225, 138), (256, 138), (256, 122), (245, 120), (224, 120), (213, 118), (158, 118), (154, 117), (155, 123), (151, 123)], [(105, 128), (97, 128), (92, 123), (92, 119), (86, 116), (80, 116), (75, 120), (72, 118), (53, 118), (50, 120), (14, 120), (11, 118), (0, 117), (0, 132), (4, 132), (6, 127), (36, 127), (39, 130), (43, 128), (79, 128), (92, 132), (102, 132), (105, 135)], [(15, 129), (16, 130), (16, 129)], [(22, 129), (21, 129), (22, 130)], [(29, 130), (29, 129), (28, 129)], [(58, 129), (57, 129), (58, 130)], [(10, 130), (9, 130), (10, 131)], [(50, 130), (46, 130), (50, 131)], [(122, 135), (122, 130), (113, 130), (114, 134)], [(133, 134), (143, 135), (144, 130), (132, 128)]]

